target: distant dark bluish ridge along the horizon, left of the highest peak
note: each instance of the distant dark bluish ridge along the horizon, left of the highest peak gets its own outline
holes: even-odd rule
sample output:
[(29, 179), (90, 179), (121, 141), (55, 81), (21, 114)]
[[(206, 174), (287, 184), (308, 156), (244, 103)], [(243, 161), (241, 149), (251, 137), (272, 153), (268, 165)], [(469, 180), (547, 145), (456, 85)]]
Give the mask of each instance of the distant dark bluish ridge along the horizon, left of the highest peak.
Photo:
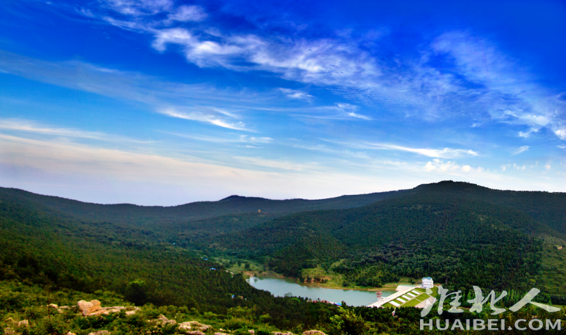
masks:
[(136, 225), (171, 224), (198, 219), (249, 212), (290, 214), (321, 209), (347, 209), (400, 196), (404, 191), (340, 196), (322, 200), (270, 200), (243, 196), (230, 196), (219, 201), (191, 202), (179, 206), (137, 206), (134, 204), (91, 204), (55, 196), (0, 187), (0, 195), (15, 201), (31, 202), (42, 209), (66, 213), (97, 222), (121, 222)]

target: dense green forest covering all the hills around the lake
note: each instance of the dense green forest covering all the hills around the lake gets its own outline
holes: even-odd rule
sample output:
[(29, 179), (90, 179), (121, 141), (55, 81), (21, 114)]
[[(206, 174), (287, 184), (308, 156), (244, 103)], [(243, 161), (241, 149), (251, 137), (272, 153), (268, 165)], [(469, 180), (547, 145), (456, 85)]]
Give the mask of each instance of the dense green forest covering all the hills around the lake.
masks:
[[(175, 207), (0, 189), (0, 280), (49, 291), (110, 290), (135, 304), (218, 315), (249, 308), (249, 318), (269, 314), (282, 329), (328, 326), (332, 315), (348, 312), (273, 297), (205, 258), (251, 260), (299, 280), (317, 267), (368, 287), (431, 276), (465, 296), (476, 285), (519, 299), (537, 286), (541, 301), (565, 303), (566, 257), (558, 250), (566, 245), (565, 208), (565, 193), (451, 181), (327, 200), (231, 196)], [(391, 322), (381, 312), (356, 313)]]

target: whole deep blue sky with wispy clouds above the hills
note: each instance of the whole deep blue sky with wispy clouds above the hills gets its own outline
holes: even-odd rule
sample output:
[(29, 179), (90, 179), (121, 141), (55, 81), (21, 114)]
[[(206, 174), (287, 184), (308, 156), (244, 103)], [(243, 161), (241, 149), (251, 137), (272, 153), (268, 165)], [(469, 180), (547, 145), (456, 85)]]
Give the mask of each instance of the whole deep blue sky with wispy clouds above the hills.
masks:
[(0, 185), (88, 202), (566, 190), (564, 1), (5, 0)]

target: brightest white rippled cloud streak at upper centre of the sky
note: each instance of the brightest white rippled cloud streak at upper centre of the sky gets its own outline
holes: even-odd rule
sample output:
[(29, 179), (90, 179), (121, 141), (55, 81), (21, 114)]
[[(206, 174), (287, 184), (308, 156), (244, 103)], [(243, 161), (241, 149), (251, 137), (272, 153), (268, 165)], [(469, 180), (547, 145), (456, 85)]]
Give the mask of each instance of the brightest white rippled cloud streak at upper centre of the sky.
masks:
[[(374, 59), (352, 42), (282, 40), (260, 36), (191, 34), (188, 29), (154, 30), (153, 47), (164, 51), (167, 44), (184, 46), (189, 62), (201, 67), (222, 66), (232, 70), (267, 70), (285, 79), (324, 85), (357, 86), (380, 75)], [(241, 65), (245, 60), (249, 65)]]

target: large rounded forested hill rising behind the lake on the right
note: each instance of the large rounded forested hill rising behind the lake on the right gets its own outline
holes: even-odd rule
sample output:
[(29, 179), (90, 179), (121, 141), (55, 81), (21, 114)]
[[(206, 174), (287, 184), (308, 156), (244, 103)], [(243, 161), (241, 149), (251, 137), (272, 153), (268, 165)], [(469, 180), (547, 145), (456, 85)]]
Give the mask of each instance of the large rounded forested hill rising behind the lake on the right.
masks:
[[(545, 280), (543, 239), (566, 243), (561, 232), (534, 219), (529, 211), (529, 204), (548, 195), (521, 193), (532, 199), (519, 197), (513, 206), (504, 206), (487, 201), (482, 190), (492, 191), (467, 183), (421, 185), (403, 196), (356, 209), (280, 217), (216, 237), (214, 243), (237, 255), (264, 260), (290, 276), (320, 265), (367, 286), (399, 276), (432, 276), (455, 288), (471, 284), (523, 288)], [(482, 196), (487, 200), (480, 200)], [(547, 204), (547, 210), (562, 211), (558, 205), (566, 204), (561, 200), (564, 195), (555, 196), (556, 207)], [(558, 271), (566, 266), (557, 265)]]

